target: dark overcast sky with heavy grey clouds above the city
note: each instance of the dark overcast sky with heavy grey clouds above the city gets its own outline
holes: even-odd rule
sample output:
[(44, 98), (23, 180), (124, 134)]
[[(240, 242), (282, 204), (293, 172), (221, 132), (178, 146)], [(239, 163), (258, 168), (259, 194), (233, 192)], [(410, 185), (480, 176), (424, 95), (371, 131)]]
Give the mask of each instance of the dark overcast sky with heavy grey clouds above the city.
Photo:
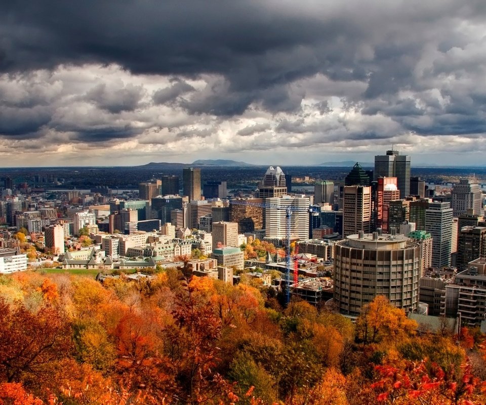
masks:
[(0, 1), (0, 166), (486, 165), (486, 2)]

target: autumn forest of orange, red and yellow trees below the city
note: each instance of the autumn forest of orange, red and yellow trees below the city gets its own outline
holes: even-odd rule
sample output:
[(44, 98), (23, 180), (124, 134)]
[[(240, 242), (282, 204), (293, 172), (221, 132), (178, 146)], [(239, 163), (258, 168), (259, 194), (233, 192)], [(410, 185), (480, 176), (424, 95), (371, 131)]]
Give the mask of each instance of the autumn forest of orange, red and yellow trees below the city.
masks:
[(0, 276), (0, 404), (482, 404), (483, 335), (352, 322), (246, 279)]

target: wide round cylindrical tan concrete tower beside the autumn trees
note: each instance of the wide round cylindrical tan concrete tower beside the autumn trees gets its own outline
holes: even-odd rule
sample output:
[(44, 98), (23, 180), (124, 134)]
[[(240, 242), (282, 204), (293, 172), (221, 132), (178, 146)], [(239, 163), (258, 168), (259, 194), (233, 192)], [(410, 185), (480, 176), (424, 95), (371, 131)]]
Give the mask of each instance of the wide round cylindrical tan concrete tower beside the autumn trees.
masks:
[(334, 302), (343, 314), (359, 315), (377, 295), (406, 311), (418, 310), (419, 245), (403, 235), (348, 235), (334, 246)]

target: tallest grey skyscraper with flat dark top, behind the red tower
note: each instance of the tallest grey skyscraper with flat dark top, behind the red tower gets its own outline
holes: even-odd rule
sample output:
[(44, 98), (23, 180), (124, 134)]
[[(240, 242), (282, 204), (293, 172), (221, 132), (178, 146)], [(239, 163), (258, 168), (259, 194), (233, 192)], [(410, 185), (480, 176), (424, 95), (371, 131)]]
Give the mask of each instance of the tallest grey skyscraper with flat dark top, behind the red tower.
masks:
[(410, 170), (409, 155), (400, 155), (396, 150), (387, 150), (386, 155), (375, 156), (375, 180), (380, 177), (396, 177), (402, 199), (410, 195)]

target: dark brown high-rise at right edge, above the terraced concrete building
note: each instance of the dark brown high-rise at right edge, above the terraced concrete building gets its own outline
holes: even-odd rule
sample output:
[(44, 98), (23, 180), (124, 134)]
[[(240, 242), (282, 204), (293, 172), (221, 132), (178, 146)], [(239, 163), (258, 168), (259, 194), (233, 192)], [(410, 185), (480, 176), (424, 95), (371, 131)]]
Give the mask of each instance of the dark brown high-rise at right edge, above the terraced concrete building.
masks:
[(468, 268), (468, 263), (486, 257), (486, 228), (465, 226), (459, 232), (456, 267), (458, 271)]

